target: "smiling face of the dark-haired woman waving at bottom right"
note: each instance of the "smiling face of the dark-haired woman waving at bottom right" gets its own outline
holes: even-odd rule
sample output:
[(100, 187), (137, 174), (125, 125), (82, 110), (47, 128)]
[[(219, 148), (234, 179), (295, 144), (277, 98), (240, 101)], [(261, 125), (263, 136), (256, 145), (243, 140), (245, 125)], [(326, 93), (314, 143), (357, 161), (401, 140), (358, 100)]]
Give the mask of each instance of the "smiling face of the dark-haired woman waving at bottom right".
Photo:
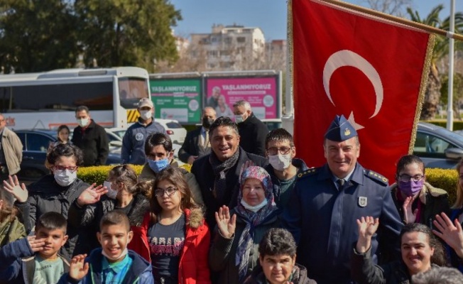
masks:
[(402, 259), (410, 275), (427, 271), (431, 268), (431, 256), (434, 248), (430, 247), (429, 236), (422, 231), (403, 234), (401, 239)]

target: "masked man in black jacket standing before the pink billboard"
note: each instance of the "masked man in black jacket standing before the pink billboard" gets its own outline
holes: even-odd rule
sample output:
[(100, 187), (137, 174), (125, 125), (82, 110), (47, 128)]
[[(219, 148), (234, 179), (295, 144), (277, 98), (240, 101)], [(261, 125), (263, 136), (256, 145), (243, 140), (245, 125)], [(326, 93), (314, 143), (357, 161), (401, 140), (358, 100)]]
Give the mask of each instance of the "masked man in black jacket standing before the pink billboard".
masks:
[(248, 153), (265, 157), (267, 126), (254, 115), (251, 105), (244, 100), (233, 104), (233, 113), (241, 136), (239, 146)]

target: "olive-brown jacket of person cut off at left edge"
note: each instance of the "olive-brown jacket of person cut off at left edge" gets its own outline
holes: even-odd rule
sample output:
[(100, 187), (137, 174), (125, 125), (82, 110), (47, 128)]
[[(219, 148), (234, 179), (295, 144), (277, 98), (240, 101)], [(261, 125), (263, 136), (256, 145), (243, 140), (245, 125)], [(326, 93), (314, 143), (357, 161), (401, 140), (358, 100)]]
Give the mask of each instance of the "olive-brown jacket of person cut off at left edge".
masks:
[(18, 209), (13, 206), (13, 195), (0, 190), (0, 248), (26, 236), (26, 228), (19, 222)]

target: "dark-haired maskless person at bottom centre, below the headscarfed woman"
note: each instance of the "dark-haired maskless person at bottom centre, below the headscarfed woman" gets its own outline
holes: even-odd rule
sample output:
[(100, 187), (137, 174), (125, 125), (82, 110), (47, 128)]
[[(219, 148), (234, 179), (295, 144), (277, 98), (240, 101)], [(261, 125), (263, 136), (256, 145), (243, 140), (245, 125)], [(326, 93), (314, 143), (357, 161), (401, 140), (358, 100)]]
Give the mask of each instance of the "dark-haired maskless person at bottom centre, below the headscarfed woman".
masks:
[(258, 246), (259, 262), (245, 284), (317, 284), (307, 277), (307, 269), (295, 263), (293, 235), (279, 228), (269, 229)]

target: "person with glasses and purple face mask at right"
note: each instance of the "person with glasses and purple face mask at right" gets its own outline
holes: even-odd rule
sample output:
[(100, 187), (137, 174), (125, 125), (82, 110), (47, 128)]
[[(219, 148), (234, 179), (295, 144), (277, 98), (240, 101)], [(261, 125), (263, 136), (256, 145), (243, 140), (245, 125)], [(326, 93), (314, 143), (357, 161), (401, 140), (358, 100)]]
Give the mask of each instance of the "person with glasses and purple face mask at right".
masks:
[(415, 155), (404, 155), (398, 160), (391, 194), (405, 224), (432, 227), (436, 214), (450, 212), (447, 192), (426, 182), (423, 160)]

